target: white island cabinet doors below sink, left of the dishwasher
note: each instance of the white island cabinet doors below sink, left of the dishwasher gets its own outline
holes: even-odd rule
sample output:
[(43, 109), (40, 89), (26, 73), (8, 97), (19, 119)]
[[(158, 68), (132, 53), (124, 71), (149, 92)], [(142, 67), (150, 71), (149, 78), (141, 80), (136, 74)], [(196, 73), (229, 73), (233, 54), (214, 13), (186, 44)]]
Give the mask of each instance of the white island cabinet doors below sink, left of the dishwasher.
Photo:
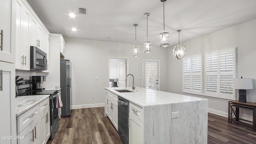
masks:
[(118, 130), (118, 97), (116, 94), (106, 90), (105, 113)]

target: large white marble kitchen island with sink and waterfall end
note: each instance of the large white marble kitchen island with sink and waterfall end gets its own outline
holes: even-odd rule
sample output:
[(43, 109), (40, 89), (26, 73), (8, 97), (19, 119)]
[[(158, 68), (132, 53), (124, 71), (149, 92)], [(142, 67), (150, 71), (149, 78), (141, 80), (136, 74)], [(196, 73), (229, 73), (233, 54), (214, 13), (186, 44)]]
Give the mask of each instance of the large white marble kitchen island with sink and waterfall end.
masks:
[(129, 144), (207, 144), (208, 100), (139, 87), (118, 89), (124, 88), (105, 88), (114, 97), (106, 95), (106, 105), (110, 99), (114, 109), (116, 96), (129, 101)]

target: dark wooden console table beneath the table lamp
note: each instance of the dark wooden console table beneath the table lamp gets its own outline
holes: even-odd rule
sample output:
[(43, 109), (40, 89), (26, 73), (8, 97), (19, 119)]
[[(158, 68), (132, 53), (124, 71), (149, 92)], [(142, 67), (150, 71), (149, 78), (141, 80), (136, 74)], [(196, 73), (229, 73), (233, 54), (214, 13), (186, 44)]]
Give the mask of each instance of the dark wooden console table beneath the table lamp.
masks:
[[(228, 122), (232, 121), (239, 121), (243, 120), (242, 118), (239, 118), (239, 108), (245, 108), (248, 110), (253, 111), (253, 116), (252, 116), (252, 129), (256, 130), (256, 103), (252, 102), (238, 102), (238, 100), (233, 100), (228, 102)], [(248, 120), (245, 120), (248, 121)]]

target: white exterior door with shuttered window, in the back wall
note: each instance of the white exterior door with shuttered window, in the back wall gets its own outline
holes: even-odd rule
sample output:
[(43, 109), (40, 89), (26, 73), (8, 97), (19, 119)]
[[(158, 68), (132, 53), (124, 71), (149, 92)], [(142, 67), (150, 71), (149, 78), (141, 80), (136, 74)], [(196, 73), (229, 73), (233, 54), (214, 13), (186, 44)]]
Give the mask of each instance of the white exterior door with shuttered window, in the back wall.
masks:
[(160, 89), (159, 66), (157, 61), (144, 61), (144, 88)]

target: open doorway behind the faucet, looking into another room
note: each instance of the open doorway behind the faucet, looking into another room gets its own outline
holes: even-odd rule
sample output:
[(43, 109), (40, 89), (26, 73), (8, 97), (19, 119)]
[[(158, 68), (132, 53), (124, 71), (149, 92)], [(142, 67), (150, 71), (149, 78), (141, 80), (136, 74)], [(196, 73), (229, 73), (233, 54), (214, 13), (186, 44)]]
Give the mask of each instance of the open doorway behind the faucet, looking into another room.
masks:
[(109, 86), (126, 87), (127, 59), (109, 58)]

